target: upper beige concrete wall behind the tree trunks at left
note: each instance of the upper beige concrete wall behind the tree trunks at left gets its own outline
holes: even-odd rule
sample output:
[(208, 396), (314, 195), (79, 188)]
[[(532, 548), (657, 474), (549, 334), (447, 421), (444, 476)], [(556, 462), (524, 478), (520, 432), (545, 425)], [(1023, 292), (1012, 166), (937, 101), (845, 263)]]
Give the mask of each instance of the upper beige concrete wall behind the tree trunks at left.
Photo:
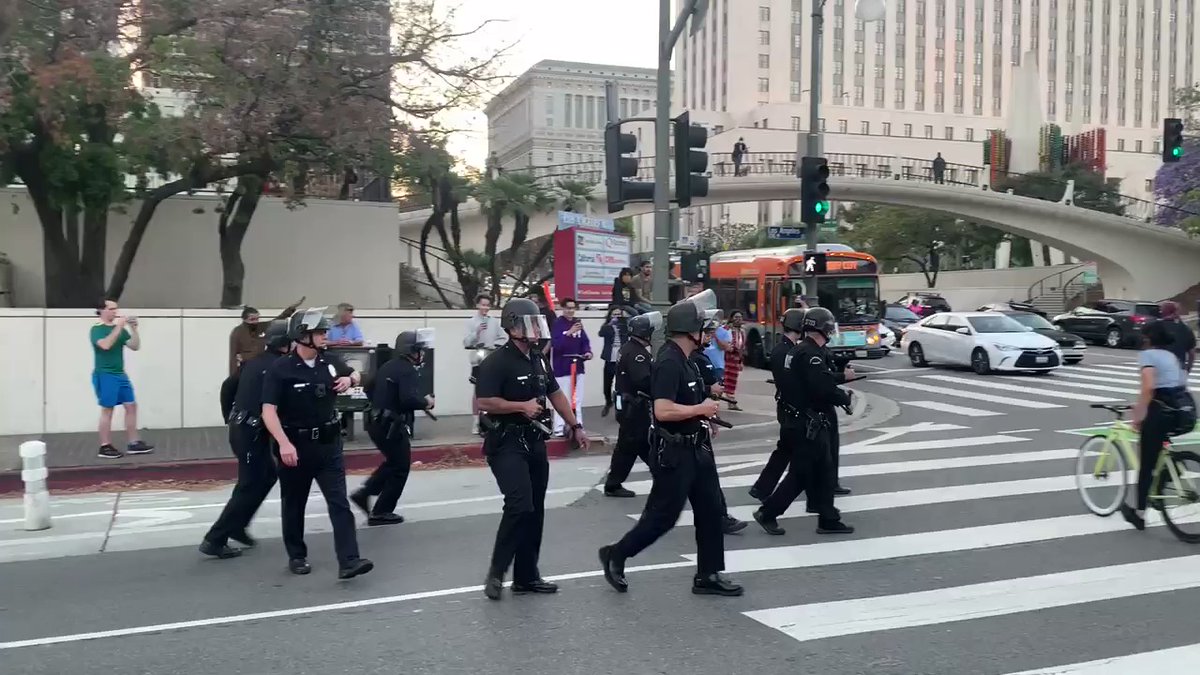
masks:
[[(121, 297), (130, 306), (217, 307), (221, 257), (215, 196), (163, 202), (138, 250)], [(108, 219), (112, 273), (128, 235), (137, 204)], [(359, 307), (398, 306), (396, 205), (312, 199), (289, 210), (264, 198), (242, 246), (244, 300), (281, 306), (299, 295), (312, 304), (352, 301)], [(16, 306), (44, 305), (42, 229), (24, 190), (0, 189), (0, 251), (13, 264)]]

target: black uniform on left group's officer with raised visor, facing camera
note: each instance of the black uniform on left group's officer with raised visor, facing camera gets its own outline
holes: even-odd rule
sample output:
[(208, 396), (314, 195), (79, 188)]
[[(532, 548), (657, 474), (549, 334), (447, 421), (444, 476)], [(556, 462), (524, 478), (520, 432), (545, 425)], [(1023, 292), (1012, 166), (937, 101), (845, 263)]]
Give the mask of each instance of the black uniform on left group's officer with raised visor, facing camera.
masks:
[(334, 410), (337, 394), (331, 365), (337, 377), (352, 372), (342, 359), (328, 352), (318, 352), (312, 366), (298, 353), (292, 353), (271, 364), (263, 382), (263, 402), (276, 406), (283, 431), (295, 446), (299, 459), (295, 466), (280, 462), (283, 546), (293, 572), (299, 573), (307, 571), (304, 516), (313, 480), (329, 508), (340, 568), (346, 571), (359, 565), (354, 514), (346, 496), (341, 425)]

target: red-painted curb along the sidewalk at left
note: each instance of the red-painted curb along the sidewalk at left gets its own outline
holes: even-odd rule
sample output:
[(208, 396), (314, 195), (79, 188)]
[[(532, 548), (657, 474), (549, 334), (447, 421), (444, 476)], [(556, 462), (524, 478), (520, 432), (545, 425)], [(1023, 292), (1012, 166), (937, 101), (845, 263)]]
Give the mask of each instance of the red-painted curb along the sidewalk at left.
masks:
[[(595, 452), (605, 447), (608, 438), (605, 436), (592, 437), (592, 448)], [(481, 442), (467, 441), (458, 443), (439, 443), (413, 447), (413, 462), (434, 464), (445, 459), (481, 459), (484, 456)], [(607, 450), (605, 450), (607, 452)], [(559, 438), (546, 442), (546, 454), (550, 459), (564, 459), (577, 456), (581, 453), (572, 450), (570, 444)], [(589, 453), (590, 454), (590, 453)], [(354, 448), (344, 450), (346, 472), (372, 471), (379, 465), (380, 455), (374, 448)], [(168, 461), (157, 464), (114, 464), (107, 466), (64, 466), (50, 468), (50, 477), (47, 480), (50, 490), (68, 490), (88, 488), (106, 483), (143, 483), (152, 480), (175, 480), (186, 483), (217, 483), (229, 482), (238, 478), (238, 460), (233, 456), (220, 459), (199, 459)], [(24, 492), (25, 485), (20, 479), (20, 471), (0, 472), (0, 495), (19, 495)]]

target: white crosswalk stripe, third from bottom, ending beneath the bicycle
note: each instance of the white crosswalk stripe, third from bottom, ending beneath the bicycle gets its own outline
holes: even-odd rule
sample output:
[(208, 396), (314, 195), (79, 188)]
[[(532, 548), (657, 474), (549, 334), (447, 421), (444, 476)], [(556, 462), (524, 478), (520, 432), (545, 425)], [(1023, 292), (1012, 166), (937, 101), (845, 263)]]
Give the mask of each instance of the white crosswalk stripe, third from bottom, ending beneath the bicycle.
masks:
[[(1082, 508), (1082, 507), (1081, 507)], [(1146, 512), (1146, 526), (1157, 527), (1163, 519), (1156, 510)], [(1072, 537), (1086, 537), (1109, 532), (1126, 532), (1130, 526), (1117, 518), (1097, 518), (1092, 514), (1060, 515), (1039, 520), (1001, 522), (893, 534), (866, 539), (838, 539), (820, 544), (796, 544), (725, 551), (725, 569), (730, 574), (770, 572), (774, 569), (800, 569), (827, 565), (850, 565), (877, 560), (892, 560), (922, 555), (947, 554), (991, 549), (1014, 544), (1032, 544)], [(696, 555), (683, 556), (695, 562)], [(1196, 575), (1200, 579), (1200, 575)]]

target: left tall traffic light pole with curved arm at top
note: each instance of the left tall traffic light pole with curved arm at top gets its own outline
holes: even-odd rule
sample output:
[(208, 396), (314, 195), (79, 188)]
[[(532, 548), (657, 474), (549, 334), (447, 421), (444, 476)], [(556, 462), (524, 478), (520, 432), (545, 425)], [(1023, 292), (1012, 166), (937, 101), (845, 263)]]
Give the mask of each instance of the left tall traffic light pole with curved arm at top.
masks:
[(704, 18), (708, 0), (686, 0), (674, 23), (671, 22), (671, 0), (659, 0), (659, 73), (658, 101), (654, 114), (654, 276), (653, 304), (671, 304), (668, 277), (671, 271), (671, 55), (688, 19), (695, 24)]

